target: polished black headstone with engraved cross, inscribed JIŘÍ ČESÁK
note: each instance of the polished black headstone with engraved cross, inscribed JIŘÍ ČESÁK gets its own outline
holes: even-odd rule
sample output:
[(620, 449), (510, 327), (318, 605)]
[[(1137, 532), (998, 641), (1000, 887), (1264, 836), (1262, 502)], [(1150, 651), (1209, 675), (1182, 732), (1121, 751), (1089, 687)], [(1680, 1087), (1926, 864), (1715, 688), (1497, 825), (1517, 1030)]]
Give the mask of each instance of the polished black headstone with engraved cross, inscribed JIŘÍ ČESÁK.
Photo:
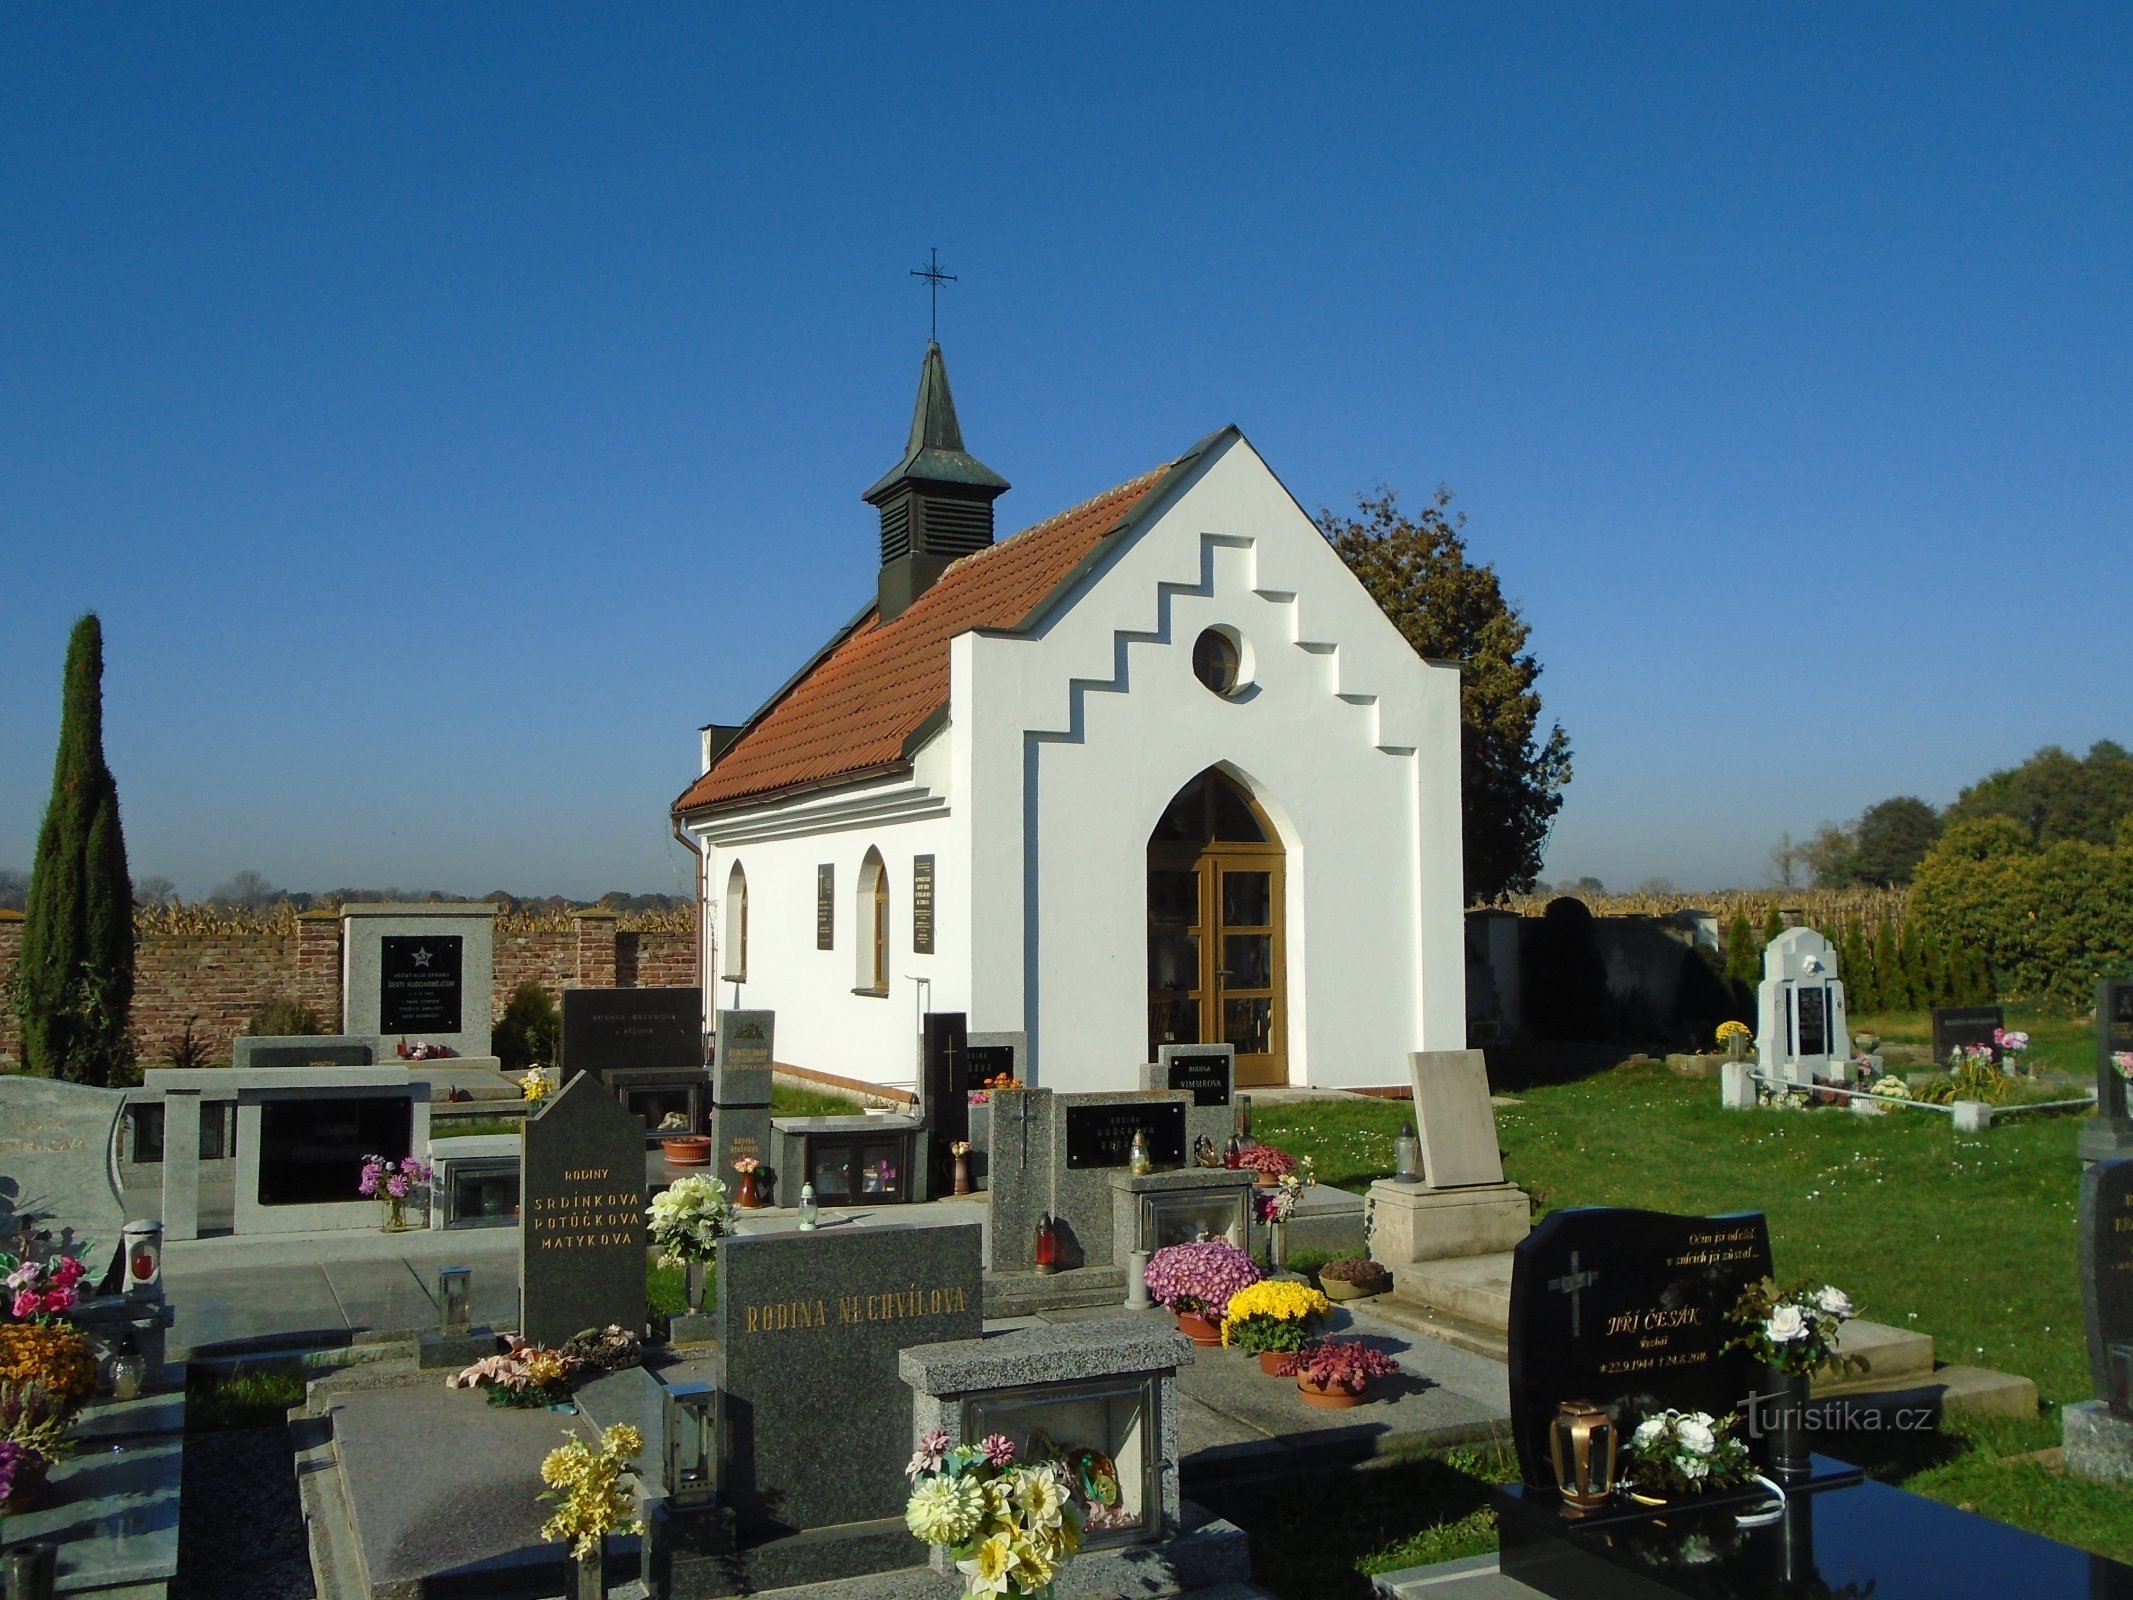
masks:
[(1762, 1363), (1723, 1353), (1741, 1289), (1770, 1276), (1760, 1212), (1555, 1212), (1510, 1271), (1510, 1434), (1525, 1483), (1553, 1485), (1549, 1423), (1566, 1399), (1627, 1431), (1657, 1410), (1745, 1412)]

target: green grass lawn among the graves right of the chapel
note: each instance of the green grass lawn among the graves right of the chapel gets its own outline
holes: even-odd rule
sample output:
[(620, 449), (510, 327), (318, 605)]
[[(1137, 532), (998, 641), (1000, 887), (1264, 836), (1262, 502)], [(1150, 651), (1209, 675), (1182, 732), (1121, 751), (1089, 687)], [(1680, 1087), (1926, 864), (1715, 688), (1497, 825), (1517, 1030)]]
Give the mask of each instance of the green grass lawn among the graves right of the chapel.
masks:
[[(1930, 1041), (1924, 1015), (1871, 1022), (1883, 1039)], [(2092, 1071), (2086, 1022), (2009, 1007), (2009, 1026), (2031, 1033), (2039, 1067)], [(2020, 1372), (2046, 1399), (2033, 1421), (1956, 1423), (1898, 1453), (1886, 1438), (1832, 1440), (1832, 1453), (1937, 1500), (2133, 1559), (2133, 1493), (2035, 1457), (2058, 1444), (2056, 1406), (2088, 1397), (2075, 1263), (2082, 1118), (1956, 1135), (1932, 1111), (1721, 1111), (1715, 1079), (1674, 1077), (1662, 1065), (1538, 1084), (1514, 1099), (1497, 1107), (1504, 1169), (1538, 1212), (1764, 1212), (1781, 1280), (1841, 1284), (1864, 1316), (1932, 1333), (1941, 1361)], [(1254, 1131), (1310, 1154), (1320, 1182), (1365, 1188), (1391, 1175), (1406, 1120), (1399, 1101), (1301, 1101), (1258, 1107)], [(1325, 1551), (1337, 1572), (1320, 1577), (1288, 1555), (1278, 1508), (1239, 1506), (1252, 1513), (1254, 1551), (1261, 1527), (1271, 1536), (1267, 1585), (1286, 1600), (1361, 1596), (1363, 1572), (1487, 1549), (1480, 1500), (1453, 1483), (1474, 1466), (1499, 1470), (1448, 1457), (1350, 1474), (1359, 1487), (1325, 1510), (1340, 1530)], [(1401, 1474), (1431, 1476), (1410, 1485)]]

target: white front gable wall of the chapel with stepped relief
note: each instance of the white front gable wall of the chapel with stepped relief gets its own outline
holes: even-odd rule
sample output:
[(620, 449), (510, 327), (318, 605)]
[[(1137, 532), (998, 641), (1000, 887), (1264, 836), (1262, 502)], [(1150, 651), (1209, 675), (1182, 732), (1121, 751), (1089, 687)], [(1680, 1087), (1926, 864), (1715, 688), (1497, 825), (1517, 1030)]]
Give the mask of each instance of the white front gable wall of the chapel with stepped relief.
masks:
[[(1248, 693), (1192, 674), (1235, 627)], [(951, 646), (951, 828), (971, 860), (973, 1028), (1035, 1082), (1122, 1088), (1148, 1054), (1148, 834), (1224, 766), (1286, 847), (1288, 1073), (1399, 1084), (1465, 1045), (1459, 676), (1421, 661), (1237, 435), (1028, 636)]]

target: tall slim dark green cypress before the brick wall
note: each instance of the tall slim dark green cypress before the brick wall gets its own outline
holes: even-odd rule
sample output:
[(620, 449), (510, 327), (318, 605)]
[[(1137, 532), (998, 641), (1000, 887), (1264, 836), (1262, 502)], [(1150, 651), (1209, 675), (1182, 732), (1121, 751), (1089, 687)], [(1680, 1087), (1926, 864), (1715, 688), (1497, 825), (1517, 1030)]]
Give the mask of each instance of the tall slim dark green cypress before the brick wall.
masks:
[(90, 612), (66, 644), (60, 753), (23, 909), (23, 1067), (77, 1084), (130, 1082), (132, 981), (132, 879), (105, 766), (105, 631)]

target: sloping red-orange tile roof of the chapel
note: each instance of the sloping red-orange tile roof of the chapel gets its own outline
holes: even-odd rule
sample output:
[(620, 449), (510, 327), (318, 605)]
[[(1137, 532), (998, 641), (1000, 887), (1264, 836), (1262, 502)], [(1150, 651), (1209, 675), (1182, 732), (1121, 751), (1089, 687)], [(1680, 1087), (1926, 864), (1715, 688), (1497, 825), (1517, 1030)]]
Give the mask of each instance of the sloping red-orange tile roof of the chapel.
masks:
[(868, 610), (755, 713), (674, 811), (766, 800), (907, 759), (904, 740), (947, 708), (947, 644), (973, 627), (1020, 627), (1105, 533), (1177, 463), (1165, 463), (1000, 544), (966, 555), (902, 617)]

